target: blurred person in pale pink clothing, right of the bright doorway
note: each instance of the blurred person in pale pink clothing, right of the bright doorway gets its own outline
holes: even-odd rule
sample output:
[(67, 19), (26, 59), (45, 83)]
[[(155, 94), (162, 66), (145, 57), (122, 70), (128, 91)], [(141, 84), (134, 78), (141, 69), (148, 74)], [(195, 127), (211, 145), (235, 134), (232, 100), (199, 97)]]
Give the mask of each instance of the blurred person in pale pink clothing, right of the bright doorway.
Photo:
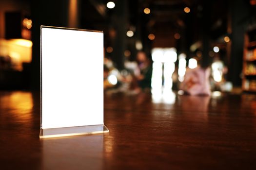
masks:
[(180, 90), (189, 95), (211, 95), (210, 68), (187, 69)]

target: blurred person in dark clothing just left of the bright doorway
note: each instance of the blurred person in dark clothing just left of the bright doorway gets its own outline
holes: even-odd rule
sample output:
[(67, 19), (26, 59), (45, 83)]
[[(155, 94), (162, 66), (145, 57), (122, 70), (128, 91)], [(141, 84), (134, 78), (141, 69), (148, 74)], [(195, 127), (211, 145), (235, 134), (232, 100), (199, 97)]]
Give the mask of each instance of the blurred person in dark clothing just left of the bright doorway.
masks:
[(152, 64), (144, 51), (137, 53), (138, 68), (140, 73), (136, 76), (138, 86), (141, 89), (151, 88)]

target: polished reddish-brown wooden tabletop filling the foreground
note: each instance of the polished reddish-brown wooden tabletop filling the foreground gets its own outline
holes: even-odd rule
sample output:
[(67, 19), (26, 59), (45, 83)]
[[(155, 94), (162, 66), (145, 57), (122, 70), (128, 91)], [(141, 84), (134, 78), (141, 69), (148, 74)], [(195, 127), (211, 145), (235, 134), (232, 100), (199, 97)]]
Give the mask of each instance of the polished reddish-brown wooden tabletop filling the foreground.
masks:
[(256, 95), (105, 94), (104, 119), (108, 134), (39, 139), (39, 93), (1, 91), (0, 169), (256, 169)]

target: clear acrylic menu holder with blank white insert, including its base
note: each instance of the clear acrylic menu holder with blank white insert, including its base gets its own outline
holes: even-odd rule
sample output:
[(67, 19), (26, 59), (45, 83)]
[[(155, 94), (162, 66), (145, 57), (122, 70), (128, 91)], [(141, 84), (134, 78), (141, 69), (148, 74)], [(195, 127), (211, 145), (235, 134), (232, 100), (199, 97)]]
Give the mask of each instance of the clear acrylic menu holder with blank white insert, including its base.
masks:
[(41, 26), (40, 138), (106, 133), (103, 32)]

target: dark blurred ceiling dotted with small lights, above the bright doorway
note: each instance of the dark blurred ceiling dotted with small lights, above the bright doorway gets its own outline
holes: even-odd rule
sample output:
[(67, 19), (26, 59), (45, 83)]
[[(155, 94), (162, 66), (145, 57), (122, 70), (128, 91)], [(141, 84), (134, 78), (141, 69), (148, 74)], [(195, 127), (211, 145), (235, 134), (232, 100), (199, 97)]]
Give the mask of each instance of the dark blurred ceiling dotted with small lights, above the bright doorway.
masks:
[[(114, 0), (118, 3), (117, 1)], [(107, 2), (107, 0), (82, 0), (81, 26), (108, 32), (116, 9), (106, 8)], [(143, 13), (146, 7), (151, 10), (148, 15)], [(190, 8), (190, 13), (184, 12), (185, 7)], [(203, 0), (127, 0), (126, 29), (133, 26), (142, 29), (143, 33), (155, 34), (157, 43), (155, 46), (162, 46), (158, 40), (164, 41), (164, 39), (169, 39), (171, 45), (176, 46), (175, 33), (181, 34), (181, 38), (197, 41), (204, 19), (203, 13), (204, 15), (207, 13), (208, 28), (212, 31), (213, 38), (226, 33), (227, 0), (208, 0), (207, 3)], [(193, 34), (189, 35), (190, 33)]]

